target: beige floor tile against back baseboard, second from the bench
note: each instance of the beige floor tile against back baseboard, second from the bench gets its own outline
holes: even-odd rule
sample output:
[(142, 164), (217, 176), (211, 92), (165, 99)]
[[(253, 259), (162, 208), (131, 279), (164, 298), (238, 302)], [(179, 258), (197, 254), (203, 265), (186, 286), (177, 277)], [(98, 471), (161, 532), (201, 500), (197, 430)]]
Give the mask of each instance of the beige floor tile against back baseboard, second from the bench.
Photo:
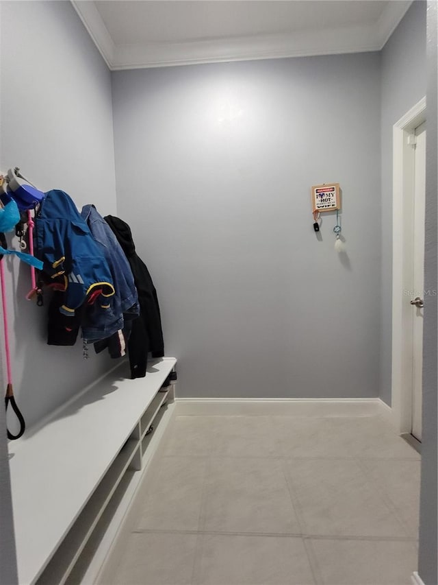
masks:
[(217, 457), (279, 455), (269, 416), (217, 416), (211, 454)]

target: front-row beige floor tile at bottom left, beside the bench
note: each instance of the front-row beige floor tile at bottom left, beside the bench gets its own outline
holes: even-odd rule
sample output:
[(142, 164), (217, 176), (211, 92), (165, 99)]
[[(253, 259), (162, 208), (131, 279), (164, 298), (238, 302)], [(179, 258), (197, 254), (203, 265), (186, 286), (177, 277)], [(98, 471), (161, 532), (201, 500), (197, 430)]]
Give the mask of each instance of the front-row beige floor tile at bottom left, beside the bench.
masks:
[(101, 585), (189, 585), (196, 534), (133, 533), (123, 543), (118, 562), (109, 562)]

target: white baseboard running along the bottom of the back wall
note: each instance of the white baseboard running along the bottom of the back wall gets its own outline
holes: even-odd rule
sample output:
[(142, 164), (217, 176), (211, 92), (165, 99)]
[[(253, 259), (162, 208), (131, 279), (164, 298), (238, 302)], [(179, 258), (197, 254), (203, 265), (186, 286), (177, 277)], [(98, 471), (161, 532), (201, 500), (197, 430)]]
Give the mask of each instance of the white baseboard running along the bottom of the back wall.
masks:
[(375, 416), (391, 420), (380, 398), (175, 398), (175, 414), (225, 416)]

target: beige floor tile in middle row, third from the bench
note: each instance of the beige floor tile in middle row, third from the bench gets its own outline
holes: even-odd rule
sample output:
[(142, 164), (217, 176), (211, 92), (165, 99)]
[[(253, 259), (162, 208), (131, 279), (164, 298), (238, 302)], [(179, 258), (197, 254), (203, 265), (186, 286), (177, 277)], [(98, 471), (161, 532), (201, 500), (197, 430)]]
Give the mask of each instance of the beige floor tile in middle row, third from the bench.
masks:
[(407, 536), (353, 459), (290, 459), (285, 469), (307, 534)]

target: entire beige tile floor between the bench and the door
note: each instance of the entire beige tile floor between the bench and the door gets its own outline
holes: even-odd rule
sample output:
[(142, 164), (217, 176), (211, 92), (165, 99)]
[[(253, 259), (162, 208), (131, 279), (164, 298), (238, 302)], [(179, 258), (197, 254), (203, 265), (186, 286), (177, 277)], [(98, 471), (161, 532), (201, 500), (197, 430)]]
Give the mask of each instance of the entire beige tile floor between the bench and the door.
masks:
[(419, 492), (378, 417), (178, 416), (99, 582), (409, 585)]

